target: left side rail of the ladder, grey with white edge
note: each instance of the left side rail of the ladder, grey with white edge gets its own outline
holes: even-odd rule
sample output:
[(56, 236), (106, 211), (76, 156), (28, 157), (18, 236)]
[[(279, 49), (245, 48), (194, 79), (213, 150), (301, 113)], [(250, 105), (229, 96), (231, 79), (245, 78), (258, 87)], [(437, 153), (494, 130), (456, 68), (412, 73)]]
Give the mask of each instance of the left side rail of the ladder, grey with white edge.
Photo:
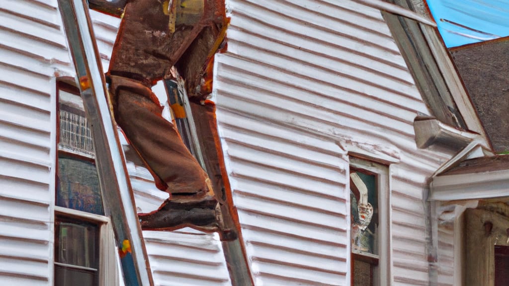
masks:
[(105, 78), (98, 56), (86, 0), (58, 0), (76, 68), (81, 97), (94, 137), (96, 166), (104, 209), (117, 243), (128, 240), (131, 254), (121, 258), (126, 286), (153, 286), (147, 251), (139, 225), (124, 155), (107, 102)]

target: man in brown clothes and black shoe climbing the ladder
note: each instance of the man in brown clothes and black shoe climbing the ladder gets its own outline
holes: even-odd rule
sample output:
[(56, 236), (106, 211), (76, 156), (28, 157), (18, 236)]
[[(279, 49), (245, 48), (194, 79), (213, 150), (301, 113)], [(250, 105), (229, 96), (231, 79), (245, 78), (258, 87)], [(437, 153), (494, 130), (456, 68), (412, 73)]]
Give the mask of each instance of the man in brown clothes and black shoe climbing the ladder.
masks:
[(176, 66), (186, 80), (188, 94), (205, 99), (207, 94), (201, 94), (199, 86), (204, 67), (224, 35), (223, 1), (89, 2), (109, 14), (123, 10), (106, 76), (115, 119), (157, 187), (170, 193), (160, 211), (140, 216), (142, 226), (168, 230), (191, 226), (222, 234), (220, 208), (210, 180), (176, 127), (161, 116), (151, 87)]

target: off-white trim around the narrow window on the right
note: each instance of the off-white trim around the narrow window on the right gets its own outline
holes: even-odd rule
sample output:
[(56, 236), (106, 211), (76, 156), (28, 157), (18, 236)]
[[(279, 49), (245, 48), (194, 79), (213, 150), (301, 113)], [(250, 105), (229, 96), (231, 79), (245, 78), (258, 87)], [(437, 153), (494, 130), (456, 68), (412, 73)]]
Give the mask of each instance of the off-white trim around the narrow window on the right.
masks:
[[(347, 171), (347, 176), (350, 176), (350, 166), (359, 169), (365, 169), (372, 173), (378, 175), (377, 180), (377, 188), (378, 188), (378, 211), (379, 211), (379, 240), (378, 240), (378, 249), (379, 249), (379, 260), (378, 267), (374, 271), (373, 277), (374, 279), (378, 279), (374, 281), (374, 284), (377, 286), (390, 286), (392, 285), (392, 237), (391, 237), (391, 195), (390, 195), (390, 176), (389, 176), (389, 167), (384, 166), (382, 164), (378, 164), (369, 160), (359, 159), (355, 157), (349, 157), (349, 168)], [(347, 179), (347, 190), (350, 190), (350, 180)], [(350, 212), (350, 196), (347, 195), (347, 208)], [(348, 243), (348, 253), (351, 253), (351, 225), (350, 220), (348, 221), (347, 235), (349, 239)], [(351, 257), (351, 256), (350, 256)], [(347, 267), (350, 269), (351, 259)], [(349, 271), (350, 272), (350, 271)], [(347, 279), (351, 279), (352, 273), (347, 275)]]

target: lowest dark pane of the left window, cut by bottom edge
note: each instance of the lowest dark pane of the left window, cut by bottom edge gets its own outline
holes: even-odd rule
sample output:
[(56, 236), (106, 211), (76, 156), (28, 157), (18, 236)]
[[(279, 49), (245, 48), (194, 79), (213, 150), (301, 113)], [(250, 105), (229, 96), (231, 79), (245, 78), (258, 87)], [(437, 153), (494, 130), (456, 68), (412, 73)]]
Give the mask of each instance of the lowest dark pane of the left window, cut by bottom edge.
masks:
[(55, 286), (94, 286), (97, 271), (55, 265)]

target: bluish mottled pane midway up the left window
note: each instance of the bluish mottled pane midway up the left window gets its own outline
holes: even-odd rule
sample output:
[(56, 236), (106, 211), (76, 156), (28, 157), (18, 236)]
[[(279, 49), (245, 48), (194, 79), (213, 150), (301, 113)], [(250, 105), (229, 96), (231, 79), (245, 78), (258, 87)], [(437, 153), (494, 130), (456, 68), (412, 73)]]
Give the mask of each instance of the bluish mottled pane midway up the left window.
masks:
[(99, 178), (94, 164), (75, 158), (59, 157), (59, 188), (56, 205), (103, 215)]

